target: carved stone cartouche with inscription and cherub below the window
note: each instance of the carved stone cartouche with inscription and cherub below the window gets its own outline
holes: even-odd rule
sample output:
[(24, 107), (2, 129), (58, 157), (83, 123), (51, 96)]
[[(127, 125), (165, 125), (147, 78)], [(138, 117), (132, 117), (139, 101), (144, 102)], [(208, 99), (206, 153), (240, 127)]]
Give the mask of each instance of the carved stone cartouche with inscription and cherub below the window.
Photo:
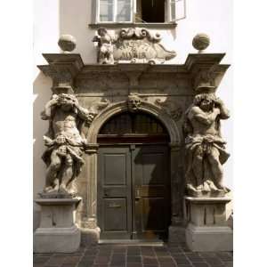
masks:
[(146, 28), (122, 28), (116, 36), (111, 36), (106, 28), (99, 28), (93, 42), (98, 47), (98, 62), (113, 64), (128, 63), (164, 63), (176, 56), (159, 44), (161, 36), (152, 34)]

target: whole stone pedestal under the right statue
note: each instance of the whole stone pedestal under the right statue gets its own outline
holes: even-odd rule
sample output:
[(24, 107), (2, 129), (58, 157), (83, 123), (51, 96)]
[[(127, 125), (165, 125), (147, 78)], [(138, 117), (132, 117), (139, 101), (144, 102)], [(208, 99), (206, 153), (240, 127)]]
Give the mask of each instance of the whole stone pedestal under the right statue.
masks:
[(231, 198), (185, 197), (187, 246), (192, 251), (231, 251), (232, 230), (227, 225), (226, 204)]

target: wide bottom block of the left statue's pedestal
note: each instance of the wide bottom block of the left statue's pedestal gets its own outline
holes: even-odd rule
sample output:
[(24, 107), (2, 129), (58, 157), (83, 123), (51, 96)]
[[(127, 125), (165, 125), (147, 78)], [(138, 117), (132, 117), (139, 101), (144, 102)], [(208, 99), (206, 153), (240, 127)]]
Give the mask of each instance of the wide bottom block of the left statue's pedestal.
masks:
[(35, 253), (71, 253), (80, 247), (81, 232), (76, 225), (69, 228), (38, 228), (34, 233)]

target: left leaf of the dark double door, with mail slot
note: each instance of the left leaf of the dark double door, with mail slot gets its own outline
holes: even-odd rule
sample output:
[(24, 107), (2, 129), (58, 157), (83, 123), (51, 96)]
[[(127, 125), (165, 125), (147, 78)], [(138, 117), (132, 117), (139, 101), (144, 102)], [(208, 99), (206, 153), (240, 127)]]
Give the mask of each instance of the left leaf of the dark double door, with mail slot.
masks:
[(130, 239), (131, 155), (128, 148), (100, 148), (98, 223), (101, 239)]

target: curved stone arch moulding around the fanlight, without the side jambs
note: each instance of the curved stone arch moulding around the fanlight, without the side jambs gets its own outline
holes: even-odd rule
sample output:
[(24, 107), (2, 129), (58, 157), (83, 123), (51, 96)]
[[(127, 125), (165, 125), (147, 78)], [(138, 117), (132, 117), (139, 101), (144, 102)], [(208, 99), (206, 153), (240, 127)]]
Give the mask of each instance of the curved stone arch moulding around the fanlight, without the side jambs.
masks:
[[(115, 104), (110, 104), (106, 109), (102, 109), (101, 112), (93, 119), (93, 123), (87, 134), (88, 143), (97, 142), (97, 134), (99, 133), (101, 126), (113, 117), (121, 112), (128, 110), (127, 101), (119, 101)], [(153, 103), (148, 101), (141, 101), (138, 111), (149, 113), (153, 117), (158, 118), (158, 120), (165, 125), (166, 130), (170, 136), (170, 142), (177, 145), (181, 144), (181, 136), (174, 119), (170, 117), (164, 109), (160, 109)]]

